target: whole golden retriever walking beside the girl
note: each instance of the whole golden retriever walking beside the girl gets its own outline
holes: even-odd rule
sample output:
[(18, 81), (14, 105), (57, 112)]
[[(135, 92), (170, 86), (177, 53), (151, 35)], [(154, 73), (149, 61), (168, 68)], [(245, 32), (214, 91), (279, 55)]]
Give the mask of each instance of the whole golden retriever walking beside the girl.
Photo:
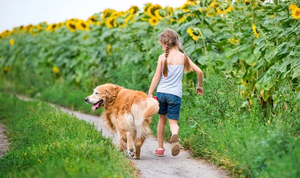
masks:
[(92, 110), (104, 106), (101, 119), (111, 133), (117, 134), (117, 148), (131, 158), (140, 159), (140, 147), (149, 136), (149, 123), (158, 112), (157, 100), (144, 92), (125, 89), (118, 85), (97, 86), (93, 94), (85, 98)]

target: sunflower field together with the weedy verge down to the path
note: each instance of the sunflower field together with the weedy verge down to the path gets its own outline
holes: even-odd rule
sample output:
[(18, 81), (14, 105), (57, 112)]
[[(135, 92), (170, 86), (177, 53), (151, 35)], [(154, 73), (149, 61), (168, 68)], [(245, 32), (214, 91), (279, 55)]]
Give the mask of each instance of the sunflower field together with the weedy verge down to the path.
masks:
[(167, 27), (204, 73), (204, 99), (196, 75), (184, 75), (182, 145), (235, 177), (299, 175), (298, 0), (146, 3), (15, 27), (0, 33), (0, 89), (77, 109), (105, 82), (147, 92)]

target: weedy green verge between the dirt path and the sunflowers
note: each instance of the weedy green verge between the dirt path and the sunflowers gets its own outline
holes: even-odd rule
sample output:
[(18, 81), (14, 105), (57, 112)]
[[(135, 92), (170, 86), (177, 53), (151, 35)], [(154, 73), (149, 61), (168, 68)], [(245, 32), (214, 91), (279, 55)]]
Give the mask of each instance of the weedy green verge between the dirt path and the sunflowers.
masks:
[[(266, 107), (264, 116), (257, 98), (251, 99), (250, 108), (237, 93), (235, 81), (228, 82), (231, 83), (226, 84), (221, 77), (207, 78), (203, 96), (187, 95), (185, 91), (193, 93), (194, 89), (183, 84), (178, 121), (182, 146), (191, 150), (193, 157), (208, 159), (228, 170), (232, 177), (297, 178), (300, 175), (300, 108), (296, 94), (282, 93), (282, 102), (277, 106), (285, 103), (288, 109)], [(13, 91), (13, 87), (5, 86), (6, 91)], [(79, 88), (67, 88), (63, 84), (54, 85), (39, 90), (35, 98), (90, 112), (90, 107), (82, 101), (86, 94)], [(269, 119), (271, 122), (267, 124)], [(157, 122), (158, 115), (155, 115), (150, 124), (153, 135), (156, 135)], [(166, 125), (166, 141), (170, 135)]]

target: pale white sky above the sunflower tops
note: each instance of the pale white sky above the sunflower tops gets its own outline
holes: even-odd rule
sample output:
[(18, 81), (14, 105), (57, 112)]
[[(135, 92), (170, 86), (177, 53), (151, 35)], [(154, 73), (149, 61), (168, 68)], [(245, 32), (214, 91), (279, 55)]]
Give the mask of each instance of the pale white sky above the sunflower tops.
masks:
[(161, 6), (181, 6), (186, 0), (3, 0), (0, 5), (0, 32), (28, 24), (61, 22), (69, 18), (87, 19), (105, 8), (127, 10), (131, 5), (140, 9), (151, 2)]

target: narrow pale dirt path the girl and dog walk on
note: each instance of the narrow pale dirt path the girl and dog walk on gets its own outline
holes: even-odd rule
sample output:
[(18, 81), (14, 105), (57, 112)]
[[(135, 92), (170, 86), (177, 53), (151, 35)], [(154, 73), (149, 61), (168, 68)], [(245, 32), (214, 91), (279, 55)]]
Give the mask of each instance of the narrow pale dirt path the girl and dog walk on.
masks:
[[(60, 107), (69, 114), (87, 122), (94, 122), (101, 130), (103, 127), (99, 117), (78, 113), (67, 108)], [(116, 143), (116, 136), (111, 135), (106, 129), (102, 130), (106, 137), (113, 137)], [(135, 167), (140, 170), (140, 178), (228, 178), (224, 171), (206, 163), (191, 158), (190, 154), (181, 150), (176, 157), (171, 156), (171, 144), (164, 143), (164, 157), (155, 157), (157, 140), (154, 137), (148, 138), (141, 147), (141, 160), (133, 160)]]

